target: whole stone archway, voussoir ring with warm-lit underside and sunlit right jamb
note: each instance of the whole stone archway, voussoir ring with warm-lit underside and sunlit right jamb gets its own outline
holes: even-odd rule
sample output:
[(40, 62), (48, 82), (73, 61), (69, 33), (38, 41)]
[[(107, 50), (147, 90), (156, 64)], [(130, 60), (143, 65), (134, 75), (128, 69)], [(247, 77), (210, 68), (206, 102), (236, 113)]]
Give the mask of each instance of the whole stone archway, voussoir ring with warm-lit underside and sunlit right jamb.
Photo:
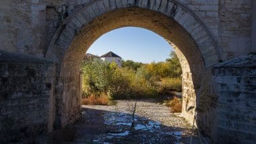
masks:
[(221, 60), (218, 45), (187, 7), (155, 2), (92, 1), (67, 17), (45, 55), (57, 63), (55, 125), (65, 126), (79, 116), (79, 68), (86, 50), (102, 34), (125, 26), (152, 30), (175, 48), (183, 68), (183, 116), (193, 122), (196, 98), (209, 89), (209, 81), (203, 80), (210, 75), (207, 69)]

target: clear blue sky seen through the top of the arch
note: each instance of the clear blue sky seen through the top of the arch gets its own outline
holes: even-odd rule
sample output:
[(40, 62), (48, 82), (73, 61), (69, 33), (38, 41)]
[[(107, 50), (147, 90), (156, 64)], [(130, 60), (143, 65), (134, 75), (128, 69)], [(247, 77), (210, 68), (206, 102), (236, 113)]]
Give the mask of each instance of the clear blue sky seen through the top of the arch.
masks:
[(113, 51), (124, 60), (151, 63), (165, 61), (171, 50), (170, 44), (158, 34), (143, 28), (125, 27), (102, 35), (88, 53), (100, 56)]

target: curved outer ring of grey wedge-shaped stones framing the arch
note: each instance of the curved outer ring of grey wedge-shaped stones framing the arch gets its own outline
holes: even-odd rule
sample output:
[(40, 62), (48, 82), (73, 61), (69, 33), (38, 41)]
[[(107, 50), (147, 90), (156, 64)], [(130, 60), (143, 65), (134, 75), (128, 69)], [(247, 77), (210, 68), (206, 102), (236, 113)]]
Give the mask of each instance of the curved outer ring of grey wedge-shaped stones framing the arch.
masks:
[[(53, 36), (49, 48), (46, 50), (44, 57), (51, 57), (55, 61), (60, 62), (61, 57), (53, 54), (53, 50), (58, 50), (59, 39), (61, 39), (61, 48), (67, 49), (69, 44), (83, 26), (89, 24), (96, 17), (116, 9), (129, 7), (139, 7), (142, 9), (150, 9), (157, 11), (172, 18), (179, 23), (195, 40), (201, 55), (205, 62), (205, 67), (210, 67), (222, 61), (220, 46), (212, 35), (212, 32), (203, 24), (200, 18), (187, 6), (174, 0), (96, 0), (91, 1), (78, 11), (66, 18), (66, 20), (58, 28)], [(67, 36), (69, 35), (69, 36)], [(66, 39), (65, 39), (66, 38)], [(69, 39), (69, 41), (67, 40)], [(65, 50), (64, 50), (65, 51)]]

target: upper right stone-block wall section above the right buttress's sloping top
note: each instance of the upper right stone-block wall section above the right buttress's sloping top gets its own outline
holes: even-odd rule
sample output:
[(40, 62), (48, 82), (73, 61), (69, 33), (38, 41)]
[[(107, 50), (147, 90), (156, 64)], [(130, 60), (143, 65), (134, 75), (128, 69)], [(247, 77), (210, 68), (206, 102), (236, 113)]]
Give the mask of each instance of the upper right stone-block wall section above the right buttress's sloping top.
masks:
[(252, 52), (251, 43), (255, 41), (251, 38), (253, 1), (219, 1), (218, 39), (226, 59)]

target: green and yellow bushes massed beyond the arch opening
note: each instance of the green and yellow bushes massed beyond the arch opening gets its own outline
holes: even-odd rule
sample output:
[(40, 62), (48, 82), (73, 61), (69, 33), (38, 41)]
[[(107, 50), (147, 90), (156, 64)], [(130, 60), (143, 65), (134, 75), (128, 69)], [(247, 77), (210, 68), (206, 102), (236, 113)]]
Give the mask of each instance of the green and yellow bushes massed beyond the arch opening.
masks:
[(165, 62), (123, 61), (122, 67), (101, 59), (82, 63), (82, 104), (108, 105), (110, 100), (158, 98), (181, 92), (181, 64), (174, 52)]

